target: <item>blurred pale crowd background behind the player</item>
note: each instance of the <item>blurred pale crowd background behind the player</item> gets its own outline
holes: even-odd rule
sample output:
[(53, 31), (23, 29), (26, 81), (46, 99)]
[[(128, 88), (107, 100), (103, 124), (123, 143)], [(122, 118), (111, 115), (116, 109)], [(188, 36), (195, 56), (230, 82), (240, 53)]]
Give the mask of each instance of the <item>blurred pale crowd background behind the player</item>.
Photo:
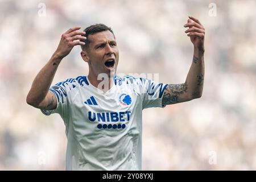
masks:
[[(256, 1), (0, 0), (0, 169), (64, 170), (58, 114), (26, 104), (32, 81), (74, 26), (104, 23), (119, 46), (118, 73), (185, 81), (193, 45), (183, 25), (205, 27), (205, 78), (197, 100), (143, 111), (144, 170), (256, 169)], [(73, 48), (53, 83), (87, 75)]]

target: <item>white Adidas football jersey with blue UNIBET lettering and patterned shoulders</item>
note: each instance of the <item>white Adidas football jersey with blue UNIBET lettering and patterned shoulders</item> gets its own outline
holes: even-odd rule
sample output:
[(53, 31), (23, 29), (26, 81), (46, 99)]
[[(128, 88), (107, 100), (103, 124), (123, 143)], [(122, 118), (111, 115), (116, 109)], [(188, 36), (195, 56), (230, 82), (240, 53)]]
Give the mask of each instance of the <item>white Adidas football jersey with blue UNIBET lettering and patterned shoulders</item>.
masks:
[(104, 93), (86, 76), (69, 78), (50, 88), (55, 110), (65, 123), (67, 170), (141, 170), (142, 110), (163, 107), (167, 84), (145, 78), (114, 76)]

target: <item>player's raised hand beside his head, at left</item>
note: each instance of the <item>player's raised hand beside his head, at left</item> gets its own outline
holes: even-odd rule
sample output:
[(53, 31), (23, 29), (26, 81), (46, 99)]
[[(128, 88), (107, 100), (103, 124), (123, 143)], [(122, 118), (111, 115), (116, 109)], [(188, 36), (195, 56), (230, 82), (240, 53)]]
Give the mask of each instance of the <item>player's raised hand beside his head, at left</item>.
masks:
[(84, 46), (85, 43), (80, 40), (85, 40), (86, 37), (84, 31), (79, 31), (81, 27), (69, 28), (64, 34), (61, 35), (59, 46), (57, 47), (55, 54), (57, 57), (63, 59), (71, 52), (72, 48), (76, 45)]

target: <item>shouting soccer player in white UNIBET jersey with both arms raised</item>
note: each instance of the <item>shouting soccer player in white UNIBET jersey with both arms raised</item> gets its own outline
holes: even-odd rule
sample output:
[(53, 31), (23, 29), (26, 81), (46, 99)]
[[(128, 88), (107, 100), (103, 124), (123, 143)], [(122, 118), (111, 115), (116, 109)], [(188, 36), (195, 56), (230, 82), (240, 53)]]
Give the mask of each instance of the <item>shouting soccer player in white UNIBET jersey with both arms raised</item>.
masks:
[[(104, 24), (84, 31), (70, 28), (61, 36), (51, 59), (32, 82), (27, 103), (46, 115), (59, 113), (63, 118), (68, 139), (66, 169), (142, 169), (142, 110), (190, 101), (203, 92), (204, 27), (192, 16), (184, 27), (194, 52), (183, 84), (115, 75), (118, 46), (114, 32)], [(77, 45), (88, 63), (88, 75), (51, 86), (59, 64)]]

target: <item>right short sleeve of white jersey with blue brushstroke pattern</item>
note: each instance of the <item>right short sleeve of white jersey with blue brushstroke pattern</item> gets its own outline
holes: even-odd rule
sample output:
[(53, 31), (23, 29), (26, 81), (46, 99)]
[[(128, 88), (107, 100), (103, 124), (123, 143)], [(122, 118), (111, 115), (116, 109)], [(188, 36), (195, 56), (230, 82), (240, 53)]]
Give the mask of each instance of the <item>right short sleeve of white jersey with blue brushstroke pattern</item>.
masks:
[(164, 107), (162, 98), (168, 84), (162, 84), (146, 78), (139, 78), (142, 86), (142, 109), (149, 107)]

